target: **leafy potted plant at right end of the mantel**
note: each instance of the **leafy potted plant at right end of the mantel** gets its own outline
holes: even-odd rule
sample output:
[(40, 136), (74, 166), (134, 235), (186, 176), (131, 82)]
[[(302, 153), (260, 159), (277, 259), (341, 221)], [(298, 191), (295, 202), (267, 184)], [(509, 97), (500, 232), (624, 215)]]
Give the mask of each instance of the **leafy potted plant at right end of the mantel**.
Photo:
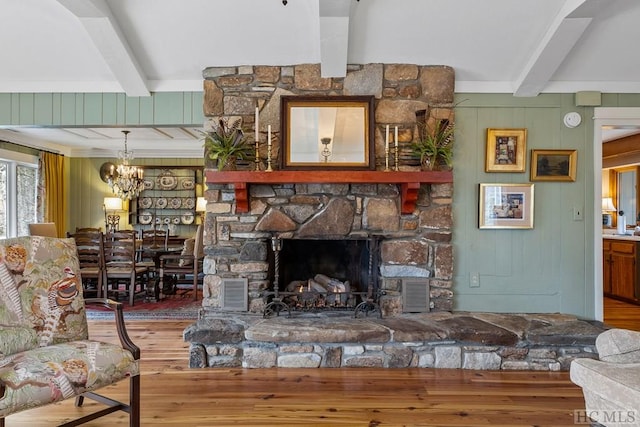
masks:
[(438, 121), (435, 129), (418, 122), (419, 137), (411, 143), (411, 152), (420, 159), (422, 170), (450, 169), (453, 163), (453, 124)]

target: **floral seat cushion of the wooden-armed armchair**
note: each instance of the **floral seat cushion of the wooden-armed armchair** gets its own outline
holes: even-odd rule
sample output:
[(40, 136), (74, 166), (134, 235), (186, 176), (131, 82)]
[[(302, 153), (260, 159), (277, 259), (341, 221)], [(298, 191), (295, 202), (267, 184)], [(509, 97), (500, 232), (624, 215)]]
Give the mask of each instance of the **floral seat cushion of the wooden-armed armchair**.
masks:
[(96, 390), (138, 375), (138, 361), (119, 345), (72, 341), (0, 360), (0, 417)]

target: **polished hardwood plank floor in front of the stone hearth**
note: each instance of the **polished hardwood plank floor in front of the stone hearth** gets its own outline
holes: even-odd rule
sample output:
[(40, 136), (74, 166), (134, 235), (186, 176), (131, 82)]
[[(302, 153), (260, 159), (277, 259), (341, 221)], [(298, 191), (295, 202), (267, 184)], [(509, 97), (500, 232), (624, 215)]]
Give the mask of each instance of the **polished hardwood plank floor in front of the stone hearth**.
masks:
[[(189, 369), (191, 321), (127, 321), (142, 350), (143, 426), (560, 426), (584, 409), (567, 372), (444, 369)], [(91, 336), (114, 341), (109, 321)], [(127, 382), (105, 394), (125, 399)], [(11, 415), (7, 427), (53, 426), (98, 405), (68, 400)], [(86, 426), (126, 426), (111, 414)]]

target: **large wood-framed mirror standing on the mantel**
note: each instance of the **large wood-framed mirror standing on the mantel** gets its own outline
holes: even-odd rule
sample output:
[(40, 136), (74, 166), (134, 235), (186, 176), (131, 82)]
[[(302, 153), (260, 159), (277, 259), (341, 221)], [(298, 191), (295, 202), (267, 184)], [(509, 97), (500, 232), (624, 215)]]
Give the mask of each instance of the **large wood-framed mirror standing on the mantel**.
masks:
[(374, 169), (373, 96), (283, 96), (280, 167)]

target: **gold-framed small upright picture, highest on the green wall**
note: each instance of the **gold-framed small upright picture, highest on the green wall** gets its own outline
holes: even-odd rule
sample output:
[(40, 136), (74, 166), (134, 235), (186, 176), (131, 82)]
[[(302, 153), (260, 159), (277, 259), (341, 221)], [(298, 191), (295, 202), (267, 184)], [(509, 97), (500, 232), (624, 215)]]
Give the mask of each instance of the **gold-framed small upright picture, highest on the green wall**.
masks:
[(524, 172), (526, 129), (487, 129), (485, 172)]

